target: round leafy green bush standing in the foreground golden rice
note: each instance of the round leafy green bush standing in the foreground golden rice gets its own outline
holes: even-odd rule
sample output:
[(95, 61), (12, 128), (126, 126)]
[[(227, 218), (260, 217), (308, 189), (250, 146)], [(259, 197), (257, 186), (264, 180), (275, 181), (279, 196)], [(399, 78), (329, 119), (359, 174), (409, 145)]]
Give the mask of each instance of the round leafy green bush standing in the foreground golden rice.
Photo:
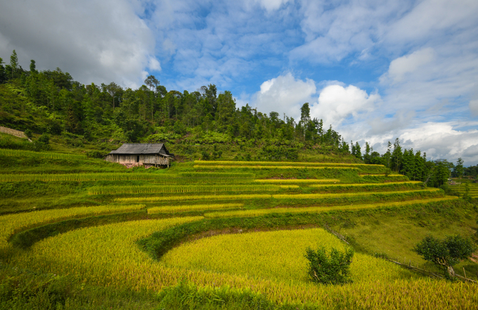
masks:
[(351, 282), (350, 264), (354, 257), (351, 248), (345, 252), (332, 248), (328, 253), (325, 247), (316, 251), (306, 249), (306, 259), (309, 260), (309, 277), (313, 282), (324, 284), (342, 284)]

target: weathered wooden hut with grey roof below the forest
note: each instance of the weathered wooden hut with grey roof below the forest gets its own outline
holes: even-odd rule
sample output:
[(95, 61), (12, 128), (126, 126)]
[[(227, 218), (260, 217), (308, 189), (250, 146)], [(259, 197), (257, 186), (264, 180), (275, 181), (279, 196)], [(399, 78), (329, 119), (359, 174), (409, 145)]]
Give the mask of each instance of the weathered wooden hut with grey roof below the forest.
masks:
[(124, 143), (106, 155), (105, 160), (123, 164), (127, 168), (169, 167), (169, 159), (173, 156), (164, 143)]

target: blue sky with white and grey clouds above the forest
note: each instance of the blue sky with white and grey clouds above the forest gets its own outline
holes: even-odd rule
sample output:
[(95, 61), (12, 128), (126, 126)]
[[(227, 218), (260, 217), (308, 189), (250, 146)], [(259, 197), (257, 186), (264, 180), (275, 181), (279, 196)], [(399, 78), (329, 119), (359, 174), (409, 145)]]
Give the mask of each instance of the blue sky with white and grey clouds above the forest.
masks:
[(0, 0), (0, 57), (83, 84), (215, 84), (384, 153), (478, 164), (476, 0)]

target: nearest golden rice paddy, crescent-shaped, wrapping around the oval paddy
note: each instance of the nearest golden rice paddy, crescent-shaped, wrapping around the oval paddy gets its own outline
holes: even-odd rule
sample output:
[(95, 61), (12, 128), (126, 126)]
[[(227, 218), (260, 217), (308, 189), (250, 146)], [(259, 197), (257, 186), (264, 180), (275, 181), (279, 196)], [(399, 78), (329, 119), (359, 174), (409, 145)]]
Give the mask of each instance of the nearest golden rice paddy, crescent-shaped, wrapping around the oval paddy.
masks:
[[(11, 261), (20, 268), (70, 274), (93, 285), (157, 292), (186, 278), (200, 286), (250, 288), (273, 302), (314, 303), (324, 309), (446, 309), (450, 304), (459, 305), (460, 309), (476, 309), (478, 303), (478, 285), (429, 279), (387, 280), (387, 273), (375, 275), (383, 280), (362, 278), (359, 283), (339, 286), (288, 283), (168, 267), (151, 259), (135, 244), (139, 238), (155, 231), (198, 219), (200, 217), (131, 221), (81, 228), (41, 240)], [(294, 251), (293, 246), (290, 250)], [(280, 261), (276, 262), (280, 266)], [(380, 267), (382, 262), (377, 264)], [(407, 274), (407, 271), (395, 271), (388, 264), (386, 270), (392, 273), (392, 278), (397, 272)]]

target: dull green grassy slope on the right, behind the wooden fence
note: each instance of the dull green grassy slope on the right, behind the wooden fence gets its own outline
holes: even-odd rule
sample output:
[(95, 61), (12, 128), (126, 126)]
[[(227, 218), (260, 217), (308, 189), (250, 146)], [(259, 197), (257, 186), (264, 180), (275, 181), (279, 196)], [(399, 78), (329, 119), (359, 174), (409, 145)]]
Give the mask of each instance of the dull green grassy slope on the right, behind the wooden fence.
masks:
[[(456, 207), (449, 207), (455, 205)], [(349, 221), (335, 224), (357, 249), (369, 254), (385, 254), (391, 259), (412, 262), (414, 266), (432, 264), (413, 252), (413, 247), (425, 235), (444, 238), (446, 235), (463, 235), (476, 238), (478, 208), (463, 201), (435, 203), (432, 207), (417, 207), (408, 212), (357, 212)], [(478, 264), (465, 261), (456, 266), (463, 276), (477, 279)]]

